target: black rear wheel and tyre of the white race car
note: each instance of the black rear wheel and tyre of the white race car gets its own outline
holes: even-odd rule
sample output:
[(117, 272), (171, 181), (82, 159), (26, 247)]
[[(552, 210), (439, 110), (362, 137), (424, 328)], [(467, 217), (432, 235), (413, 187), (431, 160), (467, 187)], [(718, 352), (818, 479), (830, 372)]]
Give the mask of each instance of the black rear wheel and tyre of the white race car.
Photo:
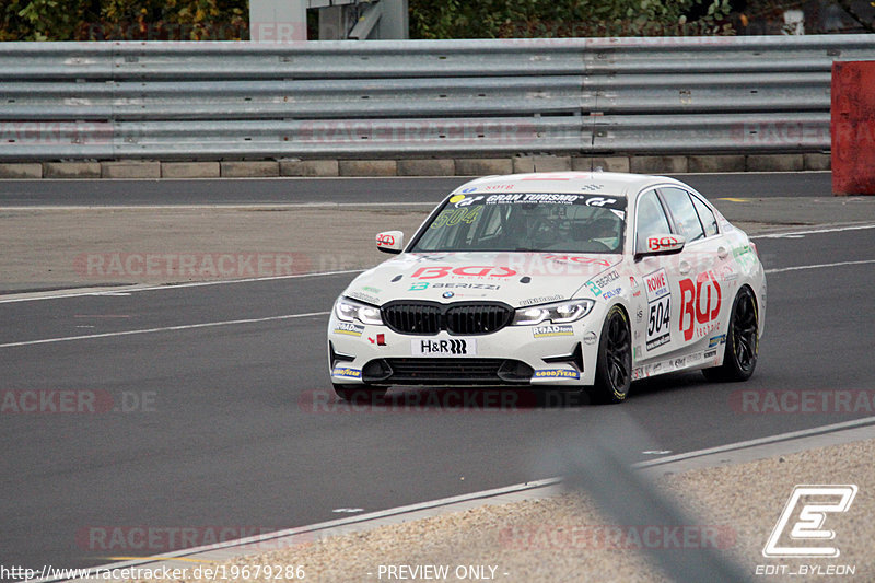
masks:
[(757, 368), (759, 351), (759, 317), (757, 300), (750, 288), (738, 290), (732, 304), (730, 329), (726, 331), (726, 346), (723, 349), (723, 364), (702, 369), (709, 381), (742, 382), (750, 378)]

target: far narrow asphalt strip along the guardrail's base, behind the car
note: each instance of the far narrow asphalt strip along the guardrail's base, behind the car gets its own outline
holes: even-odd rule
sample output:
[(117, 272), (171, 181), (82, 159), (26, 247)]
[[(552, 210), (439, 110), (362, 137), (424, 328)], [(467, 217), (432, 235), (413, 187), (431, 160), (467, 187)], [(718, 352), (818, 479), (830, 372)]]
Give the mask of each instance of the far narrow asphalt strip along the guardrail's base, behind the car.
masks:
[[(678, 175), (708, 196), (830, 196), (829, 172)], [(0, 207), (434, 202), (465, 177), (3, 180)]]

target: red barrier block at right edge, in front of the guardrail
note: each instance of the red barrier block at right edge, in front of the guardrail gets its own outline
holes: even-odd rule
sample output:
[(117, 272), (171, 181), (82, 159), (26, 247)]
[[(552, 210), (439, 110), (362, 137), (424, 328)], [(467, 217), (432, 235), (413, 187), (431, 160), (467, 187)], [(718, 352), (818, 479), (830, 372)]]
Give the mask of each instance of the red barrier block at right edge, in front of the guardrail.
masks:
[(875, 195), (875, 61), (832, 63), (832, 193)]

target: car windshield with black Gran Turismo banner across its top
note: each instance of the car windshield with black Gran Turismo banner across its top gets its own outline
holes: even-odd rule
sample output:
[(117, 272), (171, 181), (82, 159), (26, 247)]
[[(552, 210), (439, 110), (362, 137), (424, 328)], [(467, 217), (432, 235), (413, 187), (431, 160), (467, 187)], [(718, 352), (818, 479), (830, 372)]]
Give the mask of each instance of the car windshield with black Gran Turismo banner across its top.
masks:
[(411, 250), (621, 253), (625, 209), (619, 196), (455, 195)]

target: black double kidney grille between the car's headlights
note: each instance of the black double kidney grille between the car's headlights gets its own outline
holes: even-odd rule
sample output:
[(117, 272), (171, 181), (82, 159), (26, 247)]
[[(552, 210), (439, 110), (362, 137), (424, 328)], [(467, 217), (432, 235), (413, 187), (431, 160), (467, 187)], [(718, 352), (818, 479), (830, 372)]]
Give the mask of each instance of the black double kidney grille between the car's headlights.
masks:
[(467, 336), (491, 334), (510, 324), (513, 316), (508, 304), (486, 302), (390, 302), (382, 312), (383, 320), (396, 333), (417, 335), (441, 330)]

